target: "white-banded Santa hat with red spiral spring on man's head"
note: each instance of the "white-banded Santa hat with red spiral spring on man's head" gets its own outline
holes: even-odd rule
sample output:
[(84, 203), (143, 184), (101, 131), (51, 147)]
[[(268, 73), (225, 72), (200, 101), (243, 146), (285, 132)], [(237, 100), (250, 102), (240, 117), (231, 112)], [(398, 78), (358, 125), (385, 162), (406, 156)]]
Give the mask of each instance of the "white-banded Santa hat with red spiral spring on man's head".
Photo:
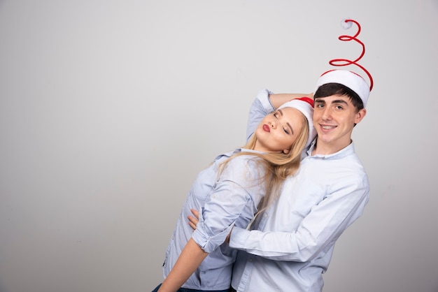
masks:
[(365, 45), (364, 45), (364, 43), (362, 43), (362, 41), (360, 41), (357, 38), (357, 36), (360, 34), (360, 24), (355, 20), (345, 19), (345, 20), (341, 21), (341, 26), (344, 29), (349, 29), (349, 28), (351, 28), (353, 23), (355, 23), (358, 26), (358, 31), (356, 32), (356, 34), (354, 36), (346, 36), (346, 35), (339, 36), (339, 40), (340, 41), (355, 41), (357, 43), (360, 43), (360, 45), (362, 45), (362, 54), (360, 54), (360, 56), (357, 59), (355, 59), (354, 61), (351, 61), (348, 59), (332, 59), (329, 61), (329, 64), (332, 66), (348, 66), (348, 65), (358, 66), (359, 68), (362, 69), (362, 71), (364, 71), (368, 75), (370, 85), (367, 84), (367, 82), (365, 81), (364, 78), (362, 78), (362, 76), (360, 76), (358, 73), (354, 73), (353, 71), (330, 70), (330, 71), (323, 73), (323, 75), (320, 76), (320, 78), (318, 79), (318, 82), (316, 82), (315, 92), (316, 92), (316, 90), (318, 90), (318, 88), (321, 85), (325, 85), (327, 83), (340, 83), (341, 85), (345, 85), (349, 89), (353, 90), (353, 92), (358, 94), (360, 99), (362, 99), (362, 102), (363, 102), (364, 108), (365, 108), (367, 106), (369, 92), (371, 92), (373, 85), (374, 85), (374, 82), (373, 82), (372, 75), (369, 73), (369, 71), (367, 71), (367, 69), (365, 67), (363, 67), (362, 65), (358, 64), (358, 61), (365, 54)]

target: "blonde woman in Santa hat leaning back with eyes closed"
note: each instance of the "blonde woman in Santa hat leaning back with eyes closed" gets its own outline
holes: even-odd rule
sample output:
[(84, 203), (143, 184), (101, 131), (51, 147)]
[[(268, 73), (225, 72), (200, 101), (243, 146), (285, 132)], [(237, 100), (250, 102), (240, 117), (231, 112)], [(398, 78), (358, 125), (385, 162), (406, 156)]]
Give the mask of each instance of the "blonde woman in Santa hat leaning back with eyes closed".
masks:
[[(276, 108), (278, 101), (269, 103)], [(245, 146), (199, 173), (167, 247), (164, 282), (154, 291), (228, 291), (236, 251), (227, 235), (233, 226), (248, 226), (297, 171), (315, 137), (312, 115), (311, 98), (284, 103), (262, 119)], [(201, 210), (195, 231), (186, 220), (193, 209)]]

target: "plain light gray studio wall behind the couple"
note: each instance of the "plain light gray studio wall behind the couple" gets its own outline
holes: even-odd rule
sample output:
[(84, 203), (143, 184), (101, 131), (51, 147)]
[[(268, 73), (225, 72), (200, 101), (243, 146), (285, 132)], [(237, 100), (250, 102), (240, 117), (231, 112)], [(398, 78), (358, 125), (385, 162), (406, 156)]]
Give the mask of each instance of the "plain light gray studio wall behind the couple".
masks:
[(325, 292), (437, 292), (438, 2), (0, 0), (0, 291), (150, 291), (195, 176), (260, 89), (374, 76), (371, 184)]

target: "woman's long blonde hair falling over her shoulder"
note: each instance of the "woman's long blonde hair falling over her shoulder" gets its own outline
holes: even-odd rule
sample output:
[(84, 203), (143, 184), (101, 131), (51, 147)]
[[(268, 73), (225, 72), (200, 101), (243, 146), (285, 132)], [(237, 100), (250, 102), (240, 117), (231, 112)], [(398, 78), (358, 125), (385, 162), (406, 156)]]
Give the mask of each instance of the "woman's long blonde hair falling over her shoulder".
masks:
[[(264, 185), (265, 196), (260, 201), (257, 209), (257, 214), (264, 211), (271, 205), (272, 202), (278, 197), (281, 191), (281, 184), (283, 181), (290, 177), (291, 175), (295, 175), (299, 168), (299, 162), (301, 161), (301, 154), (306, 145), (307, 138), (309, 137), (309, 122), (307, 122), (306, 117), (302, 115), (303, 119), (303, 129), (300, 131), (297, 139), (295, 139), (294, 143), (290, 145), (289, 151), (287, 154), (281, 153), (253, 153), (253, 152), (239, 152), (229, 157), (226, 161), (222, 162), (218, 171), (218, 175), (222, 173), (222, 170), (225, 168), (230, 159), (233, 159), (239, 155), (254, 155), (258, 156), (261, 159), (257, 159), (257, 165), (262, 167), (264, 170), (264, 175), (260, 177), (260, 181), (258, 182), (261, 185)], [(250, 138), (248, 143), (242, 148), (244, 149), (254, 149), (255, 143), (257, 141), (257, 137), (255, 134)], [(255, 214), (255, 216), (257, 216)]]

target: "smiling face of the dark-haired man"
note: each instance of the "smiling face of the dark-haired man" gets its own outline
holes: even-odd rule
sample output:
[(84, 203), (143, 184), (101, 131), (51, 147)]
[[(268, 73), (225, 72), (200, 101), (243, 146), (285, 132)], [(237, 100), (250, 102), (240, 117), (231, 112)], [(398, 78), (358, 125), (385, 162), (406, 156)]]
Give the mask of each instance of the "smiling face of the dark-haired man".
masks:
[(317, 147), (334, 153), (349, 145), (354, 124), (358, 124), (366, 113), (365, 109), (357, 111), (348, 96), (315, 98), (313, 124), (318, 133)]

